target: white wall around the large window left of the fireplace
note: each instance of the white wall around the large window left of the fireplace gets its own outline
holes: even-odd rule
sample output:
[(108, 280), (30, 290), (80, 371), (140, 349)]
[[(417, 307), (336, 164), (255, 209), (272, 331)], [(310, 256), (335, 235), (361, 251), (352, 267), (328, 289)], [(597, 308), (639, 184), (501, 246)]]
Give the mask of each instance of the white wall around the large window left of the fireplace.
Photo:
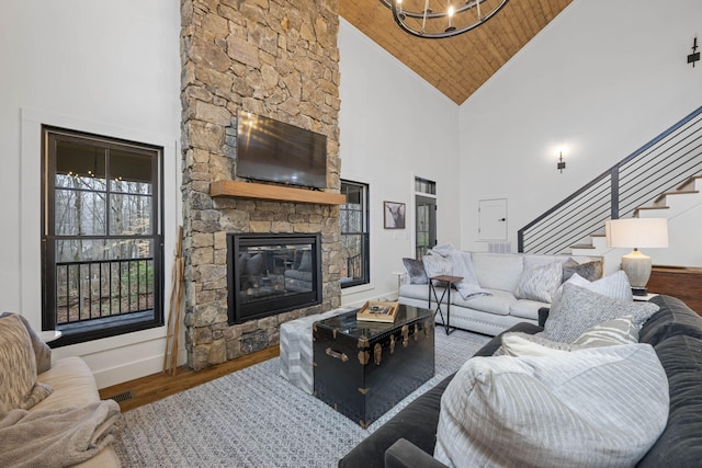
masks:
[[(41, 329), (42, 124), (165, 148), (169, 283), (180, 222), (179, 38), (179, 4), (170, 0), (3, 2), (1, 310), (21, 312)], [(54, 356), (81, 355), (98, 384), (110, 386), (159, 372), (165, 333), (161, 327), (65, 346)]]

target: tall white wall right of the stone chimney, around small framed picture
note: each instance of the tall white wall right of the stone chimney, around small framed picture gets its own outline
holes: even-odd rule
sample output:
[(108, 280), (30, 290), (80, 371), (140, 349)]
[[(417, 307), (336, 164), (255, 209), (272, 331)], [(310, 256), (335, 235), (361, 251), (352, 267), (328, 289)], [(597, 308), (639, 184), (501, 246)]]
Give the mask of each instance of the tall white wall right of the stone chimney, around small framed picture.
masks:
[[(397, 295), (403, 256), (414, 258), (414, 180), (437, 182), (439, 242), (460, 242), (458, 106), (341, 19), (342, 179), (370, 184), (371, 284), (343, 289), (344, 305)], [(406, 229), (383, 228), (383, 202), (407, 204)]]

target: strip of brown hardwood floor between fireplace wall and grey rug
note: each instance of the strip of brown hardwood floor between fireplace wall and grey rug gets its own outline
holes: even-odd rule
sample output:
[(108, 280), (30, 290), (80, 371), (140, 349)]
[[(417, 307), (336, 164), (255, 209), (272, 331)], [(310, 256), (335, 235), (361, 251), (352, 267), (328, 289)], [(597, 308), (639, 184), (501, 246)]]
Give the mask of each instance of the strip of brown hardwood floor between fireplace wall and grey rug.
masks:
[(112, 398), (120, 403), (122, 411), (128, 411), (253, 364), (268, 361), (279, 354), (279, 346), (271, 346), (199, 372), (181, 366), (178, 368), (176, 376), (158, 373), (112, 387), (105, 387), (100, 390), (100, 398), (103, 400)]

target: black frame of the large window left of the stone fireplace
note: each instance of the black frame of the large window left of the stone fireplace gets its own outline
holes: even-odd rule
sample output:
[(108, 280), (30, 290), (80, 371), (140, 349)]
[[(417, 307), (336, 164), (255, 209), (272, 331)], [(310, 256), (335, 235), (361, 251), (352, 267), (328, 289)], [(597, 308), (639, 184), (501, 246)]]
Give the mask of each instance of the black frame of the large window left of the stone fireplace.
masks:
[[(55, 226), (55, 196), (56, 196), (56, 144), (58, 141), (80, 142), (90, 145), (101, 150), (110, 151), (129, 151), (140, 155), (150, 156), (148, 161), (150, 164), (150, 233), (148, 235), (103, 235), (93, 236), (57, 236)], [(109, 161), (109, 157), (107, 157)], [(105, 168), (105, 180), (110, 181), (110, 169)], [(42, 329), (59, 330), (61, 336), (50, 342), (52, 347), (60, 347), (64, 345), (83, 343), (109, 336), (115, 336), (124, 333), (131, 333), (163, 326), (163, 284), (165, 284), (165, 265), (163, 265), (163, 147), (131, 141), (126, 139), (105, 137), (89, 134), (79, 130), (71, 130), (48, 125), (42, 126)], [(122, 193), (112, 190), (111, 183), (106, 183), (104, 193), (107, 195), (121, 195)], [(87, 193), (98, 193), (102, 191), (84, 191)], [(109, 226), (110, 214), (105, 213), (105, 225)], [(56, 300), (56, 240), (149, 240), (152, 246), (152, 258), (148, 259), (152, 269), (152, 307), (138, 311), (120, 311), (116, 315), (110, 315), (99, 318), (81, 319), (79, 321), (58, 323), (57, 300)], [(136, 269), (140, 267), (139, 259), (111, 259), (106, 262), (120, 262), (131, 264), (136, 262)], [(102, 261), (103, 263), (105, 261)], [(97, 261), (88, 261), (84, 263), (100, 263)], [(111, 266), (110, 266), (111, 267)], [(120, 265), (120, 267), (122, 267)], [(148, 264), (144, 266), (148, 272)], [(80, 269), (80, 267), (79, 267)], [(80, 271), (80, 270), (79, 270)], [(122, 274), (122, 270), (120, 270)], [(129, 272), (128, 275), (132, 273)], [(138, 276), (138, 273), (137, 273)], [(148, 277), (148, 274), (146, 275)], [(131, 279), (129, 279), (131, 281)], [(112, 282), (111, 297), (113, 288)], [(122, 292), (120, 293), (120, 301), (122, 301)], [(138, 292), (137, 292), (138, 295)], [(148, 295), (148, 294), (147, 294)], [(131, 296), (127, 296), (127, 303)], [(147, 303), (148, 306), (148, 303)]]

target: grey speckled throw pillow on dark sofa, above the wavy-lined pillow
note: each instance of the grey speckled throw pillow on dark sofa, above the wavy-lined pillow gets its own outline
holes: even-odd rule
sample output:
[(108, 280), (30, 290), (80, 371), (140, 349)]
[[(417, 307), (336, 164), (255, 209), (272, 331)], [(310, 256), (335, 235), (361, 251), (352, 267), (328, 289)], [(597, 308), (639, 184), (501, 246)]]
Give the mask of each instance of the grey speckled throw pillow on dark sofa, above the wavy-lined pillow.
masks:
[(612, 299), (566, 283), (561, 297), (551, 305), (544, 331), (539, 334), (548, 340), (573, 343), (590, 327), (624, 316), (633, 316), (638, 330), (657, 310), (658, 306), (653, 303)]

